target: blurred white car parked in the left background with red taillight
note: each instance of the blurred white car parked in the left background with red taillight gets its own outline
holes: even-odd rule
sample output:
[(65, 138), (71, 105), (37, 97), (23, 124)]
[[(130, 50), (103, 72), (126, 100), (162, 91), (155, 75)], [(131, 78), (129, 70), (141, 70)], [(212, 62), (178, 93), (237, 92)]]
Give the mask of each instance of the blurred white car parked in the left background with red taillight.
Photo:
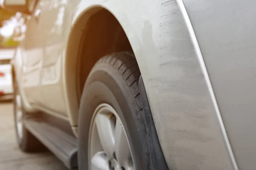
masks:
[(10, 61), (14, 52), (14, 48), (0, 48), (0, 99), (13, 93)]

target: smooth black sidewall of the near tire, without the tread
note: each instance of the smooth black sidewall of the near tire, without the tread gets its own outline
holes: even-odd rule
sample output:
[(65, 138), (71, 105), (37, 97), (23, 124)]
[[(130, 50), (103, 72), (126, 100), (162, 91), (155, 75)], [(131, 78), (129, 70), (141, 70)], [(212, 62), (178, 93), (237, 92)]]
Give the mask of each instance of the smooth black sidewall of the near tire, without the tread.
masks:
[(115, 69), (102, 67), (94, 70), (87, 79), (79, 109), (79, 167), (88, 168), (88, 139), (93, 113), (98, 105), (108, 103), (116, 110), (125, 127), (136, 170), (148, 169), (146, 146), (141, 145), (143, 139), (139, 134), (145, 126), (134, 96)]

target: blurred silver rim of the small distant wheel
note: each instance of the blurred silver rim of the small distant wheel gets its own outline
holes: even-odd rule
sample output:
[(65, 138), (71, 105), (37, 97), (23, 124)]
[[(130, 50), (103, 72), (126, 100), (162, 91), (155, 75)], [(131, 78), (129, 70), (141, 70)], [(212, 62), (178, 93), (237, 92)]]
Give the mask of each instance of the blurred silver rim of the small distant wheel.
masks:
[(21, 104), (21, 96), (17, 94), (15, 96), (15, 119), (16, 119), (16, 128), (18, 139), (23, 138), (23, 111)]

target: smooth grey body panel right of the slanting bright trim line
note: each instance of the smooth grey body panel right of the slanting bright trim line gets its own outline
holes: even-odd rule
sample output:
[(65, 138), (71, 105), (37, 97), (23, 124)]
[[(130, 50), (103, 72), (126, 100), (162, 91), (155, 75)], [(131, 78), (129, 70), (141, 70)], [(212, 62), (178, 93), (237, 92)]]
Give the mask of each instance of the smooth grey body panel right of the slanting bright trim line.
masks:
[(255, 169), (254, 0), (184, 0), (241, 170)]

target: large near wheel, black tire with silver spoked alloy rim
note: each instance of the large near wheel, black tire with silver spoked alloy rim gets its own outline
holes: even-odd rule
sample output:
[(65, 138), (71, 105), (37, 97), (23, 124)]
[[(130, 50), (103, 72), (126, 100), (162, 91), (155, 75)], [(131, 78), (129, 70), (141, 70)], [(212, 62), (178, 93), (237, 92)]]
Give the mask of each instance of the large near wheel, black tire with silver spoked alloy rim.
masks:
[(79, 109), (81, 170), (150, 170), (150, 155), (133, 54), (102, 57), (93, 67)]

